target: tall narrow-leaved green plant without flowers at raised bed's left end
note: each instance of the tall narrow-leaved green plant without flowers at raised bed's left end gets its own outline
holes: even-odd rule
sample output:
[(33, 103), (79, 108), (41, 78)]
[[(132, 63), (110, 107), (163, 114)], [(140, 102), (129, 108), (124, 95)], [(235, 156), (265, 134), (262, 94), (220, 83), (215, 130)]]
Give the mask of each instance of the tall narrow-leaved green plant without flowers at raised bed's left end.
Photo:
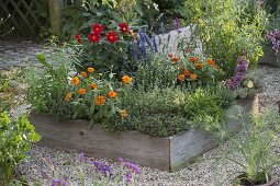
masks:
[(72, 108), (64, 101), (67, 94), (68, 74), (72, 63), (77, 62), (76, 56), (69, 48), (53, 53), (49, 58), (37, 55), (42, 70), (30, 69), (26, 71), (27, 102), (37, 112), (47, 112), (58, 118), (69, 118)]

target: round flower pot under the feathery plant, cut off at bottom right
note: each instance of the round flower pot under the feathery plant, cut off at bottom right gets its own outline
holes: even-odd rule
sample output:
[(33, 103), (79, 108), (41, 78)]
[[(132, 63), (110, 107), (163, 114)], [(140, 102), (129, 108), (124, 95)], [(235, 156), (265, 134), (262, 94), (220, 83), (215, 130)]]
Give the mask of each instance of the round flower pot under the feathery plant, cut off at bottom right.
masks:
[[(262, 176), (265, 175), (262, 174)], [(238, 175), (235, 178), (233, 186), (273, 186), (273, 184), (276, 184), (276, 179), (272, 179), (271, 176), (269, 176), (269, 179), (270, 181), (268, 183), (264, 183), (264, 182), (251, 183), (248, 181), (246, 173), (244, 173)]]

